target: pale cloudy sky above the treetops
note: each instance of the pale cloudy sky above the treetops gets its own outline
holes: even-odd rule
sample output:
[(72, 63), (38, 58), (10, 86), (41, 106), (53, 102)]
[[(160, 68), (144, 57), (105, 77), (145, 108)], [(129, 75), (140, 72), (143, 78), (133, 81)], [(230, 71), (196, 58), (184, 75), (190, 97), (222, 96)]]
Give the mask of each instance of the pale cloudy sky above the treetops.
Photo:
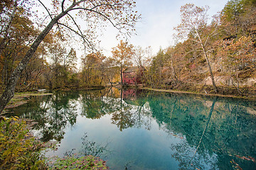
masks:
[[(137, 24), (137, 35), (128, 41), (134, 46), (143, 48), (151, 46), (153, 55), (163, 49), (174, 45), (173, 28), (180, 23), (180, 8), (184, 4), (192, 3), (196, 6), (209, 6), (209, 17), (221, 11), (228, 0), (137, 0), (137, 11), (142, 14), (142, 21)], [(117, 46), (117, 31), (107, 28), (104, 35), (99, 37), (100, 46), (106, 56), (111, 56), (112, 47)]]

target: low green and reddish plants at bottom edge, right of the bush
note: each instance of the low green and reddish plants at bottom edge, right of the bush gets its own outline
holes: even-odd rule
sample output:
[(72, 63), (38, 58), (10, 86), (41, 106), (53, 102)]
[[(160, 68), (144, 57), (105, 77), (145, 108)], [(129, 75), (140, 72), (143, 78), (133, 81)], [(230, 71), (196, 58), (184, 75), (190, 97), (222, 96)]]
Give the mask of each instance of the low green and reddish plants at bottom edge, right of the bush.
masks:
[(49, 169), (108, 169), (105, 163), (92, 155), (80, 158), (64, 157), (58, 158)]

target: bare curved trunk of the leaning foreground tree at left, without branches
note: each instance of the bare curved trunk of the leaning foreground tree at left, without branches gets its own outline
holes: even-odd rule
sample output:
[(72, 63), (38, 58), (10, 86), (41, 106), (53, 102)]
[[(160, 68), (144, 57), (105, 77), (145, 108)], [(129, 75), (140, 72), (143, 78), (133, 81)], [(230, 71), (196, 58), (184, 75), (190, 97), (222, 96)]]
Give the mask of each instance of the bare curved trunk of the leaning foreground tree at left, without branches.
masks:
[[(70, 10), (70, 8), (68, 8), (68, 10)], [(7, 103), (9, 103), (11, 98), (14, 97), (14, 91), (15, 91), (15, 86), (17, 84), (17, 81), (21, 77), (21, 73), (23, 72), (23, 69), (26, 68), (26, 65), (28, 64), (29, 60), (31, 60), (31, 57), (33, 57), (33, 54), (36, 52), (36, 49), (42, 42), (43, 38), (46, 37), (46, 35), (53, 28), (55, 23), (57, 23), (60, 18), (62, 18), (63, 16), (65, 16), (65, 14), (68, 13), (68, 10), (60, 13), (58, 16), (53, 18), (53, 20), (50, 21), (48, 26), (46, 26), (46, 28), (38, 35), (38, 37), (31, 45), (28, 52), (26, 52), (25, 57), (23, 57), (23, 59), (18, 64), (14, 72), (11, 74), (11, 77), (9, 78), (6, 84), (6, 89), (4, 91), (4, 94), (2, 94), (2, 96), (0, 97), (0, 113), (4, 110), (4, 108), (6, 107)]]

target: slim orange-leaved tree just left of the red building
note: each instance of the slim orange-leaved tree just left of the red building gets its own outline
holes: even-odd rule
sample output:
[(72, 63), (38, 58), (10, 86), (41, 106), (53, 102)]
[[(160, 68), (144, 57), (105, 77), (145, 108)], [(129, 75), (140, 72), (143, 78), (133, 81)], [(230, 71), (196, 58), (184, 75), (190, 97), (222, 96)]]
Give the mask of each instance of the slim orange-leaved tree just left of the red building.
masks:
[(117, 47), (112, 49), (112, 55), (114, 59), (117, 61), (117, 64), (120, 67), (120, 77), (121, 83), (123, 84), (122, 80), (122, 72), (124, 67), (128, 67), (132, 64), (131, 60), (134, 54), (133, 45), (129, 45), (128, 42), (120, 41)]

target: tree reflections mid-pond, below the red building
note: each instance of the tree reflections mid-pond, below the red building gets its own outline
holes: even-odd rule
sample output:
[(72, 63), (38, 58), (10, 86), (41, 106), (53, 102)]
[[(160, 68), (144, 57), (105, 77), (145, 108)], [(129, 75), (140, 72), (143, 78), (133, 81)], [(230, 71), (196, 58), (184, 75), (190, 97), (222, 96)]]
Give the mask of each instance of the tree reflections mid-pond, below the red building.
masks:
[[(131, 89), (130, 89), (131, 90)], [(86, 118), (97, 119), (101, 118), (103, 115), (112, 115), (112, 123), (117, 125), (120, 131), (142, 124), (150, 129), (149, 118), (144, 120), (144, 115), (146, 111), (144, 110), (144, 99), (140, 100), (138, 98), (137, 103), (132, 103), (129, 99), (130, 96), (122, 96), (121, 93), (115, 91), (115, 93), (120, 93), (119, 98), (114, 98), (117, 96), (114, 91), (107, 91), (104, 93), (102, 91), (90, 91), (90, 93), (82, 94), (82, 113)], [(136, 89), (132, 89), (133, 95), (137, 94)], [(110, 95), (110, 96), (109, 96)], [(149, 112), (148, 112), (149, 113)]]

